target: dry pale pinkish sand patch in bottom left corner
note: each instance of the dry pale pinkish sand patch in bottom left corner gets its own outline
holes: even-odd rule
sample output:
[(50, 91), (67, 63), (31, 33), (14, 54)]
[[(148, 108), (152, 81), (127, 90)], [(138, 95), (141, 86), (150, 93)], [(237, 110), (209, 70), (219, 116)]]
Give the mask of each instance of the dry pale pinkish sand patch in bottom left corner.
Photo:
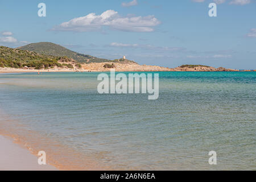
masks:
[(13, 142), (13, 139), (0, 135), (0, 171), (55, 171), (50, 165), (39, 165), (38, 158)]

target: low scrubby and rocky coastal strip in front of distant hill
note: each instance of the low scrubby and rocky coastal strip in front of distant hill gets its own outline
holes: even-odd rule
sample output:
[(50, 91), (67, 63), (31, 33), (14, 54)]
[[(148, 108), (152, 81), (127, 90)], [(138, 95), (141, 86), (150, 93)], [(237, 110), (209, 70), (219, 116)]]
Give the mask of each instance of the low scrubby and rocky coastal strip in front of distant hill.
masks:
[[(229, 72), (236, 69), (213, 68), (207, 65), (185, 64), (177, 68), (164, 68), (155, 65), (139, 65), (127, 59), (108, 60), (103, 63), (81, 63), (68, 56), (46, 55), (34, 51), (0, 46), (0, 68), (23, 69), (54, 69), (63, 68), (67, 71), (85, 69), (89, 71), (106, 71), (115, 68), (117, 71), (201, 71)], [(60, 69), (57, 69), (60, 70)]]

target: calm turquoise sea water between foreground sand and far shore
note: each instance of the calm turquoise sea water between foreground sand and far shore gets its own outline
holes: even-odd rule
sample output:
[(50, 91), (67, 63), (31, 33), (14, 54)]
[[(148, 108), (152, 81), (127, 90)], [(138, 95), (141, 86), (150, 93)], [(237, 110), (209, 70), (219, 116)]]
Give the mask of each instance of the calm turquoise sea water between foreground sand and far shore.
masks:
[[(159, 72), (159, 98), (151, 101), (98, 94), (97, 75), (0, 75), (0, 126), (34, 143), (38, 133), (114, 169), (256, 169), (256, 72)], [(67, 155), (41, 140), (43, 150)], [(216, 166), (209, 151), (217, 152)]]

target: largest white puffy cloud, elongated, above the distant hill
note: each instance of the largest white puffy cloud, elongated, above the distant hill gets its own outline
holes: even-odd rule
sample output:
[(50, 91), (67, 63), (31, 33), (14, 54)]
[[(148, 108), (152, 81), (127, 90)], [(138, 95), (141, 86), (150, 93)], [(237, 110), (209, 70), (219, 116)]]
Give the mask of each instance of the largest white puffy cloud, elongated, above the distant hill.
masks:
[(110, 27), (119, 31), (152, 32), (160, 21), (154, 15), (125, 16), (118, 15), (117, 11), (107, 10), (101, 15), (90, 13), (86, 16), (74, 18), (69, 22), (54, 27), (54, 31), (99, 31), (102, 27)]

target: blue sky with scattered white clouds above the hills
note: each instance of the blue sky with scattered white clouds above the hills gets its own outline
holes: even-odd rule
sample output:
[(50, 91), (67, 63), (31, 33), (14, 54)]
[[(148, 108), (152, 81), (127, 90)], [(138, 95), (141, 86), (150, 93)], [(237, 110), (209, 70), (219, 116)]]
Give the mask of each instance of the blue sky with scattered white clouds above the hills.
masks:
[(36, 42), (169, 68), (256, 69), (256, 0), (1, 0), (0, 45)]

